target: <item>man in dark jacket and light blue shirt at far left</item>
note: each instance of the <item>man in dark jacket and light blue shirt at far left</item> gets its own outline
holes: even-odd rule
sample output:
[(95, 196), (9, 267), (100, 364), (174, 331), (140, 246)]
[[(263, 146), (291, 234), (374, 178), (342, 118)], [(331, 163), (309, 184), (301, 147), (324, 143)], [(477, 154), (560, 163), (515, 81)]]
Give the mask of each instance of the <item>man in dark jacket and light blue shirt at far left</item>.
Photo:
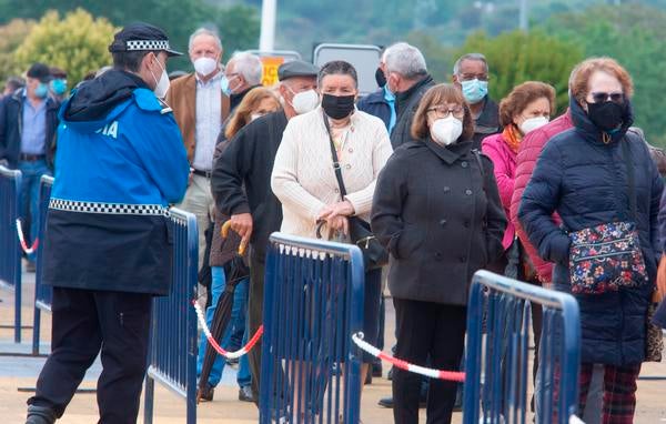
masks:
[[(21, 181), (23, 222), (30, 222), (30, 241), (37, 238), (39, 182), (53, 170), (56, 129), (60, 103), (49, 97), (49, 67), (34, 63), (27, 74), (26, 88), (14, 91), (0, 102), (0, 163), (18, 169)], [(28, 233), (28, 228), (23, 231)], [(28, 256), (28, 270), (34, 271), (33, 256)]]

